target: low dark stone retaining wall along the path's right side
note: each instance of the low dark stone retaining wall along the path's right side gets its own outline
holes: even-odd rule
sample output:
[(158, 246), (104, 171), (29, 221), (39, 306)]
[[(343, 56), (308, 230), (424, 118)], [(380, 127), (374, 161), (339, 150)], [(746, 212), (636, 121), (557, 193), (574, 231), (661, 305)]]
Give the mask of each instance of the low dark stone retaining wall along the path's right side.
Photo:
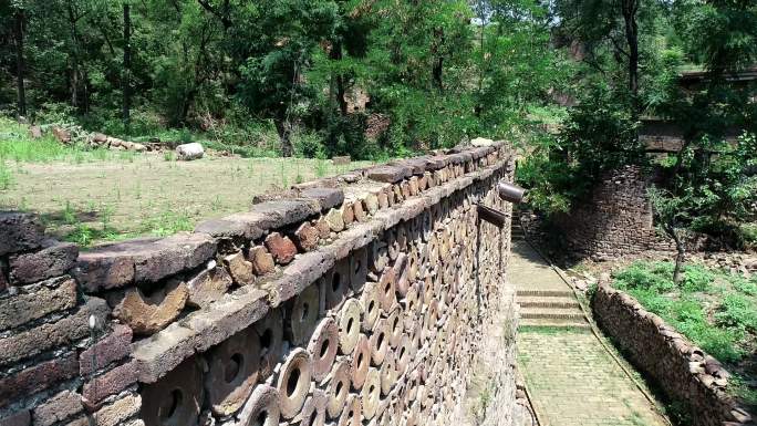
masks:
[(727, 394), (728, 372), (660, 316), (629, 294), (603, 282), (593, 298), (594, 318), (674, 401), (696, 426), (754, 425), (750, 415)]

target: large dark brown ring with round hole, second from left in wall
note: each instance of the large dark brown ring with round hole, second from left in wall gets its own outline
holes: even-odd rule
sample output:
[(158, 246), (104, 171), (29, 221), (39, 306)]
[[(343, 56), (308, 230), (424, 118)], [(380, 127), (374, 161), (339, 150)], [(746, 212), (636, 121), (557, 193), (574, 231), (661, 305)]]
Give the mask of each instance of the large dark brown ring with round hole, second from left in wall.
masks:
[(258, 382), (260, 339), (249, 326), (207, 352), (205, 389), (219, 416), (237, 412)]

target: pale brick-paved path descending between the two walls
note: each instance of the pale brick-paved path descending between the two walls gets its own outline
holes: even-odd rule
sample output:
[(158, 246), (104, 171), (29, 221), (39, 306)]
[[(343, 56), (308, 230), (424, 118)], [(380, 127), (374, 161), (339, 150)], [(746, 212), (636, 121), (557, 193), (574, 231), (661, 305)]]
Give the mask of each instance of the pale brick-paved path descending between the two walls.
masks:
[[(545, 315), (541, 323), (526, 322), (518, 331), (518, 368), (541, 426), (668, 425), (605, 352), (588, 324), (562, 316), (567, 309), (580, 309), (567, 308), (564, 299), (574, 298), (557, 272), (523, 241), (514, 241), (510, 264), (510, 281), (522, 294), (519, 299), (531, 305), (537, 303)], [(535, 301), (542, 295), (560, 301)], [(550, 309), (557, 315), (549, 316)], [(561, 320), (556, 322), (553, 318)]]

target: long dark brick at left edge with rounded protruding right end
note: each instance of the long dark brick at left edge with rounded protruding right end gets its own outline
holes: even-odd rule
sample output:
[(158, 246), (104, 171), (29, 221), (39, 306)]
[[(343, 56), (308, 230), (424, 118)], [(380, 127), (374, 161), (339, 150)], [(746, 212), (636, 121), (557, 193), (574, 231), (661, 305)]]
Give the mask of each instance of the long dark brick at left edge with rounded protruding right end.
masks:
[(34, 356), (82, 339), (90, 333), (90, 315), (95, 316), (97, 324), (103, 324), (108, 311), (104, 300), (90, 298), (86, 304), (71, 316), (0, 339), (0, 365)]

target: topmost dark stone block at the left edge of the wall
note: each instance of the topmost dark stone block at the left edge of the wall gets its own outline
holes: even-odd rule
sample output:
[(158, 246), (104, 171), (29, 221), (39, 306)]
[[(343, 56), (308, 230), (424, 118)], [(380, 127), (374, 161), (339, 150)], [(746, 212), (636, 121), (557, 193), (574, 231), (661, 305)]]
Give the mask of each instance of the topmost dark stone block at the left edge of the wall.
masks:
[(0, 211), (0, 256), (35, 250), (43, 239), (44, 227), (35, 215)]

